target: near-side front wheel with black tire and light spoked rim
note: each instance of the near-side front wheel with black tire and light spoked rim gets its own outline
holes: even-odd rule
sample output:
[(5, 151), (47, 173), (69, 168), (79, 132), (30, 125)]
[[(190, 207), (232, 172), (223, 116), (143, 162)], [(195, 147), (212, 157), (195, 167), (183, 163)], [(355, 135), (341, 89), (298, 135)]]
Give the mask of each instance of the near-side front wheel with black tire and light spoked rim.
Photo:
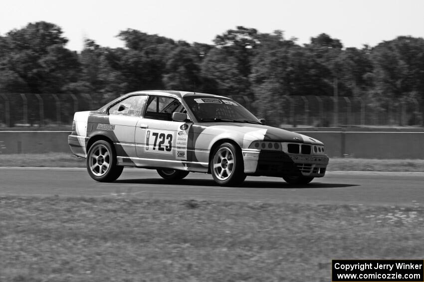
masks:
[(246, 179), (241, 150), (231, 143), (223, 143), (217, 147), (209, 165), (213, 180), (218, 185), (237, 185)]

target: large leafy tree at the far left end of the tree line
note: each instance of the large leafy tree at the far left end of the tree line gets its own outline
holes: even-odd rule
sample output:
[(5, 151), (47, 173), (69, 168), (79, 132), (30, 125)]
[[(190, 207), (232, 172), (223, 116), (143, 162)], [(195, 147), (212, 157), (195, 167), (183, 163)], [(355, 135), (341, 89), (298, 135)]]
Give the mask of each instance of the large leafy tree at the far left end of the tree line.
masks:
[(66, 42), (60, 27), (44, 21), (9, 31), (0, 43), (0, 76), (17, 86), (3, 78), (0, 87), (8, 92), (61, 92), (77, 80), (80, 69), (77, 54), (64, 47)]

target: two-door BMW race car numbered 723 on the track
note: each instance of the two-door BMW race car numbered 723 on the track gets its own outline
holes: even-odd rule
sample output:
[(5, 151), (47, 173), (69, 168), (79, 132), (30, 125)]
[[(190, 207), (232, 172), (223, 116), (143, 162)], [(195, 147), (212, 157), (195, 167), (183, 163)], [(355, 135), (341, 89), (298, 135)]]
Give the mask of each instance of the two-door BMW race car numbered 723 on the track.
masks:
[(195, 92), (136, 91), (76, 112), (68, 143), (100, 182), (129, 166), (156, 169), (167, 180), (209, 173), (222, 186), (248, 175), (307, 184), (328, 165), (322, 142), (267, 126), (225, 96)]

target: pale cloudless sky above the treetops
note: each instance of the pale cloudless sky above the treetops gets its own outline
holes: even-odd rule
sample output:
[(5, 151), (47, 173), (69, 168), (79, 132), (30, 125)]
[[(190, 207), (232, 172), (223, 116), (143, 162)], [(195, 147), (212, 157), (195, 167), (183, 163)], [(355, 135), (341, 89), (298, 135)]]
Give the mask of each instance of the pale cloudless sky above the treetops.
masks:
[(375, 46), (400, 35), (424, 37), (424, 0), (0, 0), (0, 35), (29, 22), (62, 28), (67, 48), (84, 38), (123, 47), (128, 28), (189, 43), (212, 44), (236, 26), (284, 31), (298, 44), (327, 33), (344, 47)]

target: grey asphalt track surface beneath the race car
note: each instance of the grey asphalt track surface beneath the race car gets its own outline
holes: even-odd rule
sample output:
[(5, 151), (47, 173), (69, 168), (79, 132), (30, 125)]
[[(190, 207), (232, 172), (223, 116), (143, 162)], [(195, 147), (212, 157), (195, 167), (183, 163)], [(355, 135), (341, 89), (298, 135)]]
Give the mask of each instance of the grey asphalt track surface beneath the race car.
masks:
[(117, 181), (100, 183), (84, 168), (2, 167), (1, 196), (417, 206), (424, 204), (424, 173), (327, 172), (299, 187), (280, 178), (247, 177), (240, 187), (220, 187), (211, 175), (201, 173), (167, 182), (154, 170), (125, 168)]

